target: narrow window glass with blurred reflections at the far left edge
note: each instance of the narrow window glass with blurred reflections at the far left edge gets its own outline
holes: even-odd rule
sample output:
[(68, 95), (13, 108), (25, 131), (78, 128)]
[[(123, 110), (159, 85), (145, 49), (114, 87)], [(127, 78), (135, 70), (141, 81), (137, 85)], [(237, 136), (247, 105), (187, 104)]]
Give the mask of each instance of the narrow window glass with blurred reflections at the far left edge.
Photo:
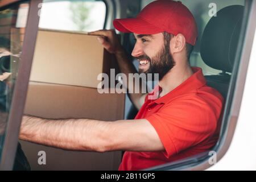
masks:
[(18, 76), (28, 6), (28, 3), (15, 4), (0, 11), (0, 160)]

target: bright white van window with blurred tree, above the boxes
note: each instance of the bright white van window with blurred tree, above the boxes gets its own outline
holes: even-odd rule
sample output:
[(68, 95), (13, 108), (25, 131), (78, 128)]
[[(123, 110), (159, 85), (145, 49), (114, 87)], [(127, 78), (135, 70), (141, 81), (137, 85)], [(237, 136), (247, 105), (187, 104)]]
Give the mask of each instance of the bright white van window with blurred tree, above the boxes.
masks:
[(96, 31), (104, 28), (103, 1), (48, 1), (39, 5), (39, 28), (65, 31)]

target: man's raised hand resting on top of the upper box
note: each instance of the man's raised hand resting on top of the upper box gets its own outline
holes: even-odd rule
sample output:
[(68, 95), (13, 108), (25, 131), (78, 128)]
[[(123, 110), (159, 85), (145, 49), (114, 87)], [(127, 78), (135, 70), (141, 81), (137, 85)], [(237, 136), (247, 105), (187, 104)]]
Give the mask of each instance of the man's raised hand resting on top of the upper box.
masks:
[(115, 34), (114, 30), (98, 30), (89, 32), (88, 34), (98, 35), (98, 41), (110, 53), (117, 54), (123, 51), (123, 48), (118, 40), (118, 36)]

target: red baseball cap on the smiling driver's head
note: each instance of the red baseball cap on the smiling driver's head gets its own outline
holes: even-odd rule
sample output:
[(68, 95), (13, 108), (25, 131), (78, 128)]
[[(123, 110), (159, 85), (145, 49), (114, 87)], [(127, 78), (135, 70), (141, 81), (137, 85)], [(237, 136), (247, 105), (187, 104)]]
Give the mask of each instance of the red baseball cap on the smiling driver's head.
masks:
[(186, 42), (195, 46), (197, 27), (192, 13), (180, 1), (158, 0), (148, 4), (136, 18), (114, 19), (118, 31), (135, 34), (168, 32), (184, 35)]

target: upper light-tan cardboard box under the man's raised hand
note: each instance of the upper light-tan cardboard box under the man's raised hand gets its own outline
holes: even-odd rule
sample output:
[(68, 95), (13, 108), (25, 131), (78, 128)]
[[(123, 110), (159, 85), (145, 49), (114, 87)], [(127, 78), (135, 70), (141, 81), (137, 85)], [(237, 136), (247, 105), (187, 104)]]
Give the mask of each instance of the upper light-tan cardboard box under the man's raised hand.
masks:
[(97, 88), (102, 80), (98, 75), (111, 68), (118, 68), (114, 55), (97, 36), (39, 30), (30, 80)]

